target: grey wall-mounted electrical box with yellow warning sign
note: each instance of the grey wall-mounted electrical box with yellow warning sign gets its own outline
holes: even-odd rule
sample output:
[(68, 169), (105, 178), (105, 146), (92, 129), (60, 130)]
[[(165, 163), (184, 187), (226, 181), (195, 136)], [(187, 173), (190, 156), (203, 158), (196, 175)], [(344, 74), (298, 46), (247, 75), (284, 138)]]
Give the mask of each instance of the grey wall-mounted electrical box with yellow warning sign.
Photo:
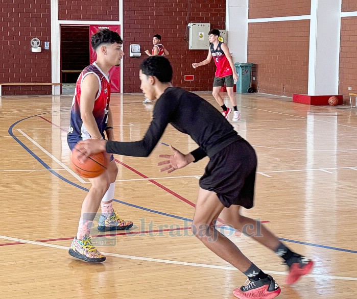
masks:
[(208, 32), (211, 30), (210, 23), (188, 23), (188, 49), (206, 50), (209, 47)]

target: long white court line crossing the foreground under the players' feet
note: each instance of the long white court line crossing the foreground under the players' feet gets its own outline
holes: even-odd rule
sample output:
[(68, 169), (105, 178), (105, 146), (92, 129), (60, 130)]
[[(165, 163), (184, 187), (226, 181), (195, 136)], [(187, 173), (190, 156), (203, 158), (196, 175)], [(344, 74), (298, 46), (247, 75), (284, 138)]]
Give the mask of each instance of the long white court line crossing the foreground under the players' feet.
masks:
[[(39, 245), (39, 246), (44, 246), (44, 247), (57, 248), (57, 249), (62, 249), (62, 250), (69, 250), (69, 247), (61, 246), (61, 245), (55, 245), (55, 244), (49, 244), (49, 243), (43, 243), (43, 242), (37, 242), (37, 241), (31, 241), (31, 240), (25, 240), (25, 239), (19, 239), (19, 238), (12, 238), (12, 237), (2, 236), (2, 235), (0, 235), (0, 238), (1, 239), (5, 239), (5, 240), (9, 240), (9, 241), (20, 242), (20, 243), (28, 243), (28, 244), (32, 244), (32, 245)], [(229, 266), (218, 266), (218, 265), (209, 265), (209, 264), (188, 263), (188, 262), (182, 262), (182, 261), (154, 259), (154, 258), (148, 258), (148, 257), (129, 256), (129, 255), (121, 255), (121, 254), (115, 254), (115, 253), (107, 253), (107, 252), (102, 252), (102, 253), (104, 255), (106, 255), (106, 256), (122, 258), (122, 259), (147, 261), (147, 262), (155, 262), (155, 263), (163, 263), (163, 264), (175, 264), (175, 265), (191, 266), (191, 267), (220, 269), (220, 270), (239, 271), (237, 268), (229, 267)], [(287, 272), (280, 272), (280, 271), (265, 271), (265, 272), (268, 273), (268, 274), (274, 274), (274, 275), (287, 275)], [(317, 278), (317, 279), (322, 279), (322, 280), (329, 279), (329, 280), (351, 280), (351, 281), (357, 281), (357, 277), (327, 276), (327, 275), (317, 275), (317, 274), (308, 274), (308, 275), (305, 275), (305, 277), (312, 277), (312, 278)]]

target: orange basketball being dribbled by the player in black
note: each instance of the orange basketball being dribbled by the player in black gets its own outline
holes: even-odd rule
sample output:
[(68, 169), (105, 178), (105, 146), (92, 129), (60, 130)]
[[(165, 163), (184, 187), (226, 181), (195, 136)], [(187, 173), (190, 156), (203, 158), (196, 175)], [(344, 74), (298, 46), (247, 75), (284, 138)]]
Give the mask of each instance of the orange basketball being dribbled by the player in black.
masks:
[(107, 159), (103, 152), (90, 155), (84, 163), (78, 160), (80, 154), (80, 148), (76, 144), (72, 151), (72, 166), (75, 172), (83, 178), (96, 178), (107, 169)]

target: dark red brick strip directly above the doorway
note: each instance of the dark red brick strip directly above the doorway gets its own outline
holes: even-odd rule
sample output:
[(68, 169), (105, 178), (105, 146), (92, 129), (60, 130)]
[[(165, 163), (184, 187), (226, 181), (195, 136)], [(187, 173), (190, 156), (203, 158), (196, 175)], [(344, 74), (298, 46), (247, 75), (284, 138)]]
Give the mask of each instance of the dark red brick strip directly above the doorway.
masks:
[(119, 1), (58, 0), (58, 19), (117, 21)]

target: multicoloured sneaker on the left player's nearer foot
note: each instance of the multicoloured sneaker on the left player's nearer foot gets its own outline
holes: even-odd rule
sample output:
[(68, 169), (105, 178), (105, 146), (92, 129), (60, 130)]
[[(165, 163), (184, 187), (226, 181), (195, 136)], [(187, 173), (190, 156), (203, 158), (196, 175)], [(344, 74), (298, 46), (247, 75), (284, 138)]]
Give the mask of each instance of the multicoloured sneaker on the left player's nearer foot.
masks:
[(75, 237), (72, 244), (70, 244), (69, 255), (90, 263), (104, 262), (105, 256), (92, 245), (91, 239), (92, 237), (90, 236), (86, 236), (81, 240)]

